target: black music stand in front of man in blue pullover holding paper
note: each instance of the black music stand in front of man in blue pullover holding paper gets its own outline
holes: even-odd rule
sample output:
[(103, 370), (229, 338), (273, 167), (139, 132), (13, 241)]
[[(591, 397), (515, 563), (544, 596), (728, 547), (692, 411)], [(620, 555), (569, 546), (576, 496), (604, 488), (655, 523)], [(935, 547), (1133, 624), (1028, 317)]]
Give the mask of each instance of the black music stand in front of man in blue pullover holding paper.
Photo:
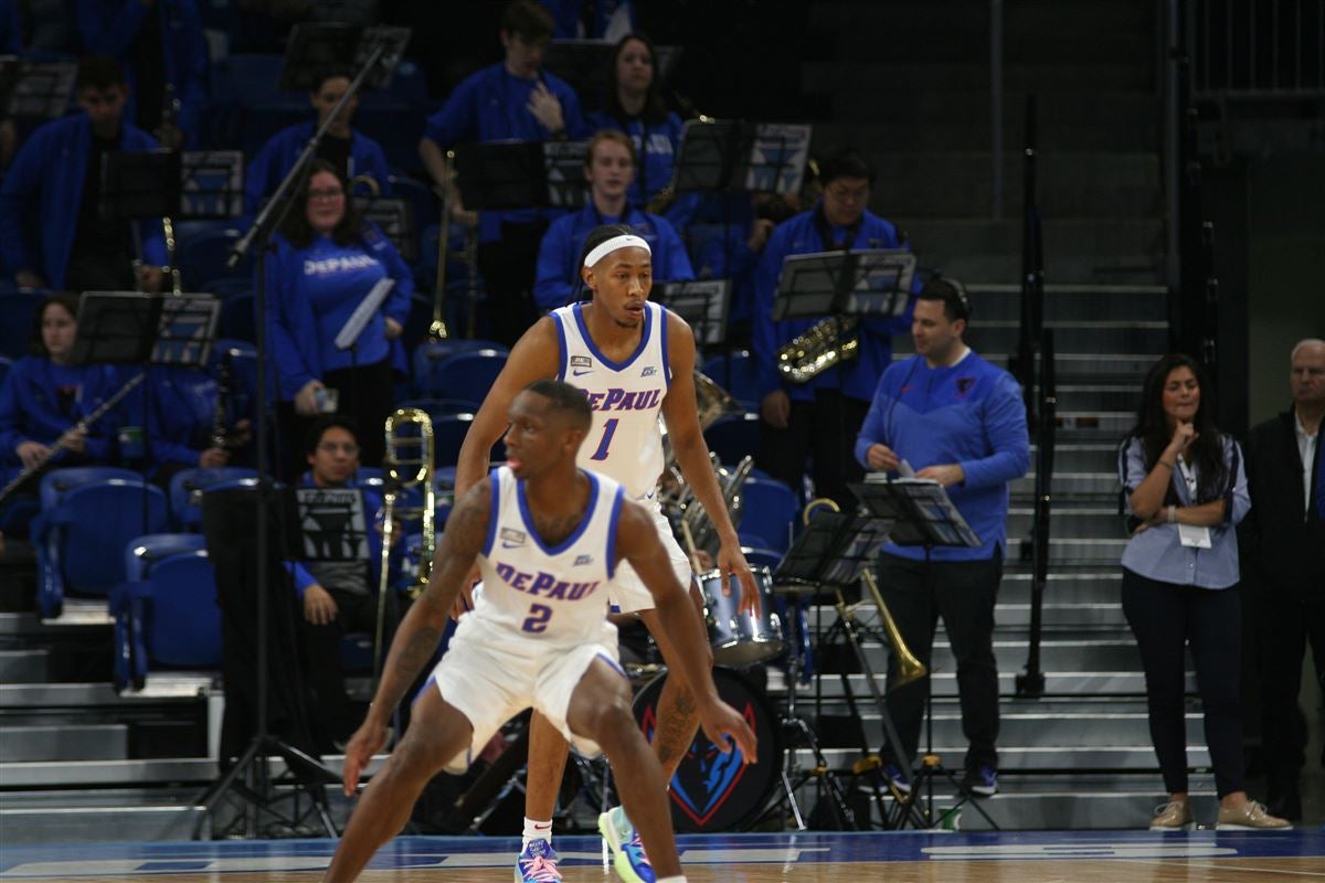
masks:
[[(931, 563), (931, 552), (937, 547), (974, 548), (980, 545), (980, 537), (975, 535), (962, 514), (947, 498), (947, 491), (930, 478), (898, 478), (889, 479), (884, 473), (872, 473), (863, 483), (848, 485), (851, 491), (860, 498), (865, 508), (873, 515), (893, 522), (893, 531), (889, 541), (896, 545), (920, 545), (925, 549), (925, 564)], [(928, 569), (928, 568), (926, 568)], [(943, 767), (942, 759), (934, 753), (934, 691), (933, 671), (925, 674), (925, 718), (926, 718), (926, 749), (921, 757), (920, 773), (912, 777), (912, 790), (897, 801), (897, 810), (893, 821), (894, 827), (901, 827), (908, 821), (922, 822), (924, 827), (937, 827), (942, 818), (934, 814), (934, 778), (942, 776), (961, 796), (957, 804), (947, 808), (953, 812), (967, 802), (984, 817), (990, 827), (995, 831), (999, 826), (984, 812), (978, 801), (973, 801), (973, 794), (962, 788), (957, 774)], [(898, 745), (890, 745), (892, 756), (898, 767), (902, 767), (902, 753)], [(906, 770), (908, 773), (912, 770)], [(926, 806), (920, 808), (920, 796), (925, 793)]]

